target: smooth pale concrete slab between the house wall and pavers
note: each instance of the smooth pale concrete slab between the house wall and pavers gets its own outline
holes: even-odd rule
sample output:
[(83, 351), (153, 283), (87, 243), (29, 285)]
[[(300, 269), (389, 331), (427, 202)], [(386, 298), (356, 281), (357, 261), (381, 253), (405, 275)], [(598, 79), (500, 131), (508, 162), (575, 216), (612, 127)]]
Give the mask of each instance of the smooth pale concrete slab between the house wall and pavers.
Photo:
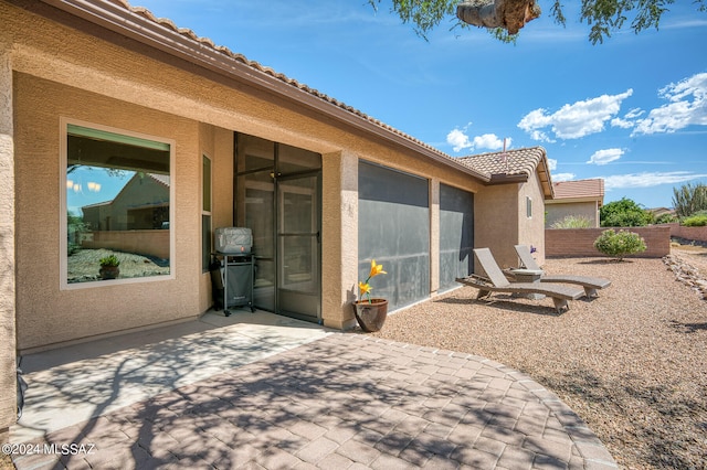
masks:
[(29, 384), (12, 442), (42, 437), (329, 334), (256, 311), (208, 312), (198, 321), (75, 344), (21, 359)]

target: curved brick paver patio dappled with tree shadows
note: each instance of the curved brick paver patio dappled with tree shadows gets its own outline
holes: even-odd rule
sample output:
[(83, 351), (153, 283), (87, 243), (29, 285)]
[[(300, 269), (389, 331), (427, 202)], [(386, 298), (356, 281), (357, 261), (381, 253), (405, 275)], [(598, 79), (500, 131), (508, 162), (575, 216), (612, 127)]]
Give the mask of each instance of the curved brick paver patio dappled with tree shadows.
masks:
[(616, 468), (530, 377), (352, 333), (223, 371), (46, 442), (65, 455), (15, 457), (18, 469)]

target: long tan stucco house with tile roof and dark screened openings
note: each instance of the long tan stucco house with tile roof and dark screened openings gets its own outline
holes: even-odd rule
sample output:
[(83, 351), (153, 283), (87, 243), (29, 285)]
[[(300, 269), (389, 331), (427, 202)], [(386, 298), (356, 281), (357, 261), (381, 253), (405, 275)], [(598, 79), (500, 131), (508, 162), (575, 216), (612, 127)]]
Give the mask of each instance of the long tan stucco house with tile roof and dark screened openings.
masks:
[[(207, 311), (217, 227), (252, 228), (256, 307), (335, 329), (371, 258), (391, 310), (455, 287), (473, 247), (544, 258), (541, 148), (451, 158), (120, 0), (3, 0), (0, 24), (2, 441), (18, 354)], [(93, 228), (67, 214), (125, 173), (169, 182), (131, 203), (159, 224), (119, 226), (159, 237), (168, 273), (74, 282), (68, 235)]]

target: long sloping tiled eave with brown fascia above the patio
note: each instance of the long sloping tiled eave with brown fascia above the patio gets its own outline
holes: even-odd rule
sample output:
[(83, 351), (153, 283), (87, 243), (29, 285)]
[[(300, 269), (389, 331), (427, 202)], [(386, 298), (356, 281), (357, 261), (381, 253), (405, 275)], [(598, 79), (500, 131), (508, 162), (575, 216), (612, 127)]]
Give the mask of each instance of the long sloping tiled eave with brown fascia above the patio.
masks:
[[(210, 39), (198, 36), (192, 30), (178, 28), (172, 21), (156, 18), (149, 10), (130, 7), (124, 0), (42, 0), (44, 3), (72, 15), (97, 24), (122, 36), (130, 38), (157, 51), (186, 60), (210, 72), (245, 82), (265, 89), (279, 98), (294, 100), (300, 106), (325, 114), (338, 122), (362, 129), (371, 136), (395, 146), (407, 148), (436, 162), (452, 167), (488, 184), (490, 174), (461, 164), (457, 159), (415, 139), (391, 126), (374, 119), (358, 109), (345, 105), (314, 88), (274, 72), (228, 47), (215, 45)], [(45, 9), (24, 8), (56, 20)], [(126, 46), (124, 41), (119, 44)], [(193, 68), (191, 68), (193, 72)]]

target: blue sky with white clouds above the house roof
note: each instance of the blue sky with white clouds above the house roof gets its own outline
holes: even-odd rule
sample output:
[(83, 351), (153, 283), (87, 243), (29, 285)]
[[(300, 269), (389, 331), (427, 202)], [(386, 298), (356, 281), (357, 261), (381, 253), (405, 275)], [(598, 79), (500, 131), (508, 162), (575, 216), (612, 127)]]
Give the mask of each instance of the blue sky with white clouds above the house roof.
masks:
[(542, 146), (553, 181), (646, 207), (707, 183), (707, 13), (678, 1), (659, 31), (591, 45), (579, 2), (566, 28), (550, 3), (513, 45), (453, 19), (424, 41), (388, 1), (131, 1), (452, 157)]

